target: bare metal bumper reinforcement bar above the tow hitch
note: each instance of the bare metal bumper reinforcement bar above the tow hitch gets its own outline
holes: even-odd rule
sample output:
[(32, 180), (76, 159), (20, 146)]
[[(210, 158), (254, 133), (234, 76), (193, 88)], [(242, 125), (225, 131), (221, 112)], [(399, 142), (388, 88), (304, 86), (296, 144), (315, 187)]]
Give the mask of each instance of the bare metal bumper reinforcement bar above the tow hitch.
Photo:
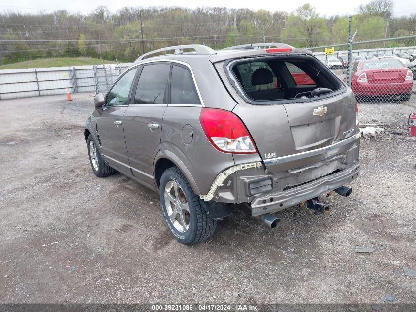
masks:
[(278, 192), (260, 194), (251, 202), (252, 215), (274, 213), (317, 197), (351, 182), (358, 176), (359, 171), (359, 164), (355, 163), (342, 171), (320, 177), (303, 185)]

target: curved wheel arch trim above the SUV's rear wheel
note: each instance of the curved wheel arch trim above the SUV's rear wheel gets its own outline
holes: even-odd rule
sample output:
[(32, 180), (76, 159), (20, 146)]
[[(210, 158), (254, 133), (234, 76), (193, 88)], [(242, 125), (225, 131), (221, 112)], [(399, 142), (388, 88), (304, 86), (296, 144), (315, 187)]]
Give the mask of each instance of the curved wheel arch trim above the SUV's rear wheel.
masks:
[(155, 177), (155, 184), (158, 189), (159, 189), (160, 177), (163, 174), (163, 172), (170, 167), (176, 166), (187, 178), (189, 184), (192, 187), (193, 192), (196, 195), (201, 195), (201, 192), (199, 191), (199, 188), (196, 185), (196, 182), (193, 179), (191, 172), (188, 170), (187, 166), (182, 162), (182, 160), (178, 156), (176, 156), (173, 152), (168, 151), (168, 150), (160, 151), (156, 155), (153, 163), (154, 163), (153, 173)]

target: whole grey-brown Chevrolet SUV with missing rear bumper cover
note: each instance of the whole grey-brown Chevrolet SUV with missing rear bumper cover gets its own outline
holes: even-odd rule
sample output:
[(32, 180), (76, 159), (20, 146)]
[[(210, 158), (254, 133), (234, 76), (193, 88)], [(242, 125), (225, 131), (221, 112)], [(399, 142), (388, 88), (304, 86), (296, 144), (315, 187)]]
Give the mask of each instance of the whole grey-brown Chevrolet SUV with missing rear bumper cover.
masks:
[(119, 171), (159, 192), (172, 235), (209, 238), (231, 204), (271, 213), (306, 202), (359, 173), (357, 104), (350, 88), (309, 50), (261, 43), (215, 51), (203, 45), (139, 57), (85, 126), (93, 172)]

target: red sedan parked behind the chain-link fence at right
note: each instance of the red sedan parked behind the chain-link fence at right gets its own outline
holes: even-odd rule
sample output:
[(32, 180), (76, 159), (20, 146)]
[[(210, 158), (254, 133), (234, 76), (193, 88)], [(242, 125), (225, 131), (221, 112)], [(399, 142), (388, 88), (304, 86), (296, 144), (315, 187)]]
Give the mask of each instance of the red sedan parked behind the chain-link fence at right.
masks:
[(397, 59), (363, 60), (352, 66), (351, 87), (358, 98), (400, 95), (402, 100), (408, 101), (412, 86), (412, 71)]

